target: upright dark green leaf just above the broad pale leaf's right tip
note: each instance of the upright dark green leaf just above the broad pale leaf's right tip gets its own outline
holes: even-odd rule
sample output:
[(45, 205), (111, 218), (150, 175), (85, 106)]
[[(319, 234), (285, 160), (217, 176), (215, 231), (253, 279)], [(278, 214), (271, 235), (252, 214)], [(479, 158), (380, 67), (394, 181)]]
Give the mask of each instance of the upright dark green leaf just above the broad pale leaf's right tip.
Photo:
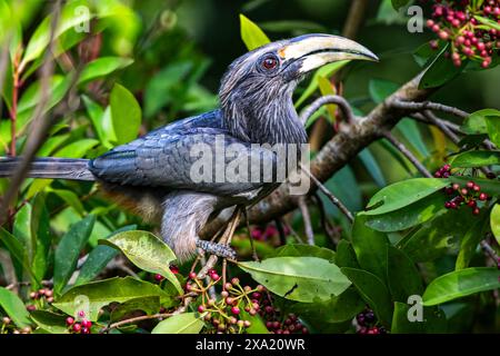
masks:
[(386, 234), (367, 227), (366, 222), (366, 216), (359, 214), (356, 216), (351, 233), (352, 247), (361, 268), (386, 280), (389, 239)]

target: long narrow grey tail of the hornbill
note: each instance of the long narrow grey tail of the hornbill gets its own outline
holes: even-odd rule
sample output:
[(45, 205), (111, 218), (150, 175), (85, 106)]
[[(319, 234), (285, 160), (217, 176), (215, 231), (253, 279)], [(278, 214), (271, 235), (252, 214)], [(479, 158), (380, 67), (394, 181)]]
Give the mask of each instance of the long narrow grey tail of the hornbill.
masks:
[[(22, 157), (0, 157), (0, 178), (11, 177)], [(88, 159), (72, 158), (37, 158), (30, 164), (30, 178), (60, 178), (71, 180), (96, 180), (88, 169)]]

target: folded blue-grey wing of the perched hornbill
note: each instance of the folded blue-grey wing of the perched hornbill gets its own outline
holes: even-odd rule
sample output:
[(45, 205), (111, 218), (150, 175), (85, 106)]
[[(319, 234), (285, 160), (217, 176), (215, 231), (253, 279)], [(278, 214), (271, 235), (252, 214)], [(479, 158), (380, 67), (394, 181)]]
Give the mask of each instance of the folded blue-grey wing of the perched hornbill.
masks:
[[(222, 160), (223, 167), (217, 164), (216, 145), (220, 144), (220, 140), (226, 148), (238, 144), (231, 146), (234, 148), (234, 155), (240, 159), (247, 159), (248, 162), (248, 170), (237, 171), (231, 181), (224, 179), (227, 177), (217, 180), (220, 178), (217, 174), (220, 174), (221, 169), (226, 170), (228, 164), (234, 161), (234, 157), (226, 157)], [(203, 152), (208, 150), (212, 156), (200, 156), (200, 149)], [(203, 176), (201, 181), (199, 178), (193, 179), (192, 176), (192, 167), (200, 162), (200, 159), (203, 159), (203, 164), (210, 164), (210, 159), (212, 162), (211, 166), (204, 166), (211, 168), (211, 174)], [(271, 150), (251, 147), (250, 144), (229, 136), (221, 128), (189, 127), (172, 130), (166, 127), (98, 157), (90, 162), (89, 167), (100, 179), (120, 185), (188, 189), (234, 196), (269, 186), (269, 182), (266, 184), (262, 179), (251, 181), (252, 159), (253, 161), (258, 159), (261, 171), (270, 167), (276, 169), (277, 157)]]

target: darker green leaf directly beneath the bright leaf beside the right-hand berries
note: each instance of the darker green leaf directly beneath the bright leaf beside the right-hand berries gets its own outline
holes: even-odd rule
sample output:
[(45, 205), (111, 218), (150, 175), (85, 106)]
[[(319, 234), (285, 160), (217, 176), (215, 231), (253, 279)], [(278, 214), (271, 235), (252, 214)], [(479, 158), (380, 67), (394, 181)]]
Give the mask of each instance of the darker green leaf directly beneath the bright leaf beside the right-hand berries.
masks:
[(367, 216), (367, 226), (383, 233), (401, 231), (426, 222), (444, 211), (447, 196), (441, 191), (437, 191), (401, 209), (381, 215)]

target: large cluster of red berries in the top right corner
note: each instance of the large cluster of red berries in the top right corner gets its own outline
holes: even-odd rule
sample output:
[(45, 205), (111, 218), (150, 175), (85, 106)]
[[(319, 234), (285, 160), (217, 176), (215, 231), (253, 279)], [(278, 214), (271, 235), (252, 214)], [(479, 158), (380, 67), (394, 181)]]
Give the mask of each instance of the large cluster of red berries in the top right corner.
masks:
[[(477, 17), (500, 23), (500, 0), (436, 0), (432, 19), (427, 26), (441, 39), (450, 43), (451, 60), (460, 67), (464, 59), (481, 63), (482, 68), (491, 65), (492, 56), (500, 48), (500, 31), (478, 21)], [(439, 47), (431, 41), (432, 49)]]

